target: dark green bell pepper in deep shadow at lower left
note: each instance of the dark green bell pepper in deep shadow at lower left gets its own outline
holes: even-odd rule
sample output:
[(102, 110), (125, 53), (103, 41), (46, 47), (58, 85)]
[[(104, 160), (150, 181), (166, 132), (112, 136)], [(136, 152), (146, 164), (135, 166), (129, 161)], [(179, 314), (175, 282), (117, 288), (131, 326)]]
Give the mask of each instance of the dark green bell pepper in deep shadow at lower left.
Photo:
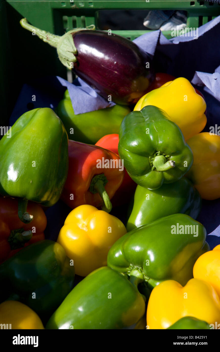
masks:
[(46, 322), (73, 288), (75, 269), (63, 247), (43, 240), (0, 265), (0, 302), (16, 300)]

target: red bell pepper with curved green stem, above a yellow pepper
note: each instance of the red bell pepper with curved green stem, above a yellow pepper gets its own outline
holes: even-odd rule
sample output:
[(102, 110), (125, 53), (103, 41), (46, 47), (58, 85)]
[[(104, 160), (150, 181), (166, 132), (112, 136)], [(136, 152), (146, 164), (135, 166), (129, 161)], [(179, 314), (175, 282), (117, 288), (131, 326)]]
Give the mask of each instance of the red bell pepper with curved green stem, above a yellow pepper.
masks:
[(62, 200), (70, 207), (83, 204), (110, 212), (110, 199), (121, 186), (124, 169), (115, 153), (69, 140), (69, 171)]

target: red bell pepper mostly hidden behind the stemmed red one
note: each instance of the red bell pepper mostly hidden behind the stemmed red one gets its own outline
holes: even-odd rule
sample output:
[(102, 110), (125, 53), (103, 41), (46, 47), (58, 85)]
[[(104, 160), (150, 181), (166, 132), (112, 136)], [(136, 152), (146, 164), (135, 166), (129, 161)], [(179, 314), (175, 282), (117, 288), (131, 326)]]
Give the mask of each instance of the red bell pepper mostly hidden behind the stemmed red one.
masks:
[[(118, 142), (118, 134), (113, 133), (107, 134), (106, 136), (102, 137), (98, 140), (95, 145), (111, 150), (112, 152), (118, 155)], [(137, 184), (130, 178), (127, 171), (125, 170), (124, 180), (111, 200), (112, 205), (117, 206), (127, 203), (130, 200), (132, 193), (134, 192), (136, 187)]]

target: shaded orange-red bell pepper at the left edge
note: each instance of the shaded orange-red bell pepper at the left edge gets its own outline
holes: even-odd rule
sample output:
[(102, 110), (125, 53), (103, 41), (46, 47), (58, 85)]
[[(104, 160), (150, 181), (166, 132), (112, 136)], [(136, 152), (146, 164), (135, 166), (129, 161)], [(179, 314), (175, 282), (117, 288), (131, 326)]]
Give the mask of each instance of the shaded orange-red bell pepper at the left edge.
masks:
[(34, 216), (29, 224), (18, 217), (18, 200), (0, 197), (0, 263), (34, 242), (44, 239), (46, 215), (37, 203), (28, 202), (27, 211)]

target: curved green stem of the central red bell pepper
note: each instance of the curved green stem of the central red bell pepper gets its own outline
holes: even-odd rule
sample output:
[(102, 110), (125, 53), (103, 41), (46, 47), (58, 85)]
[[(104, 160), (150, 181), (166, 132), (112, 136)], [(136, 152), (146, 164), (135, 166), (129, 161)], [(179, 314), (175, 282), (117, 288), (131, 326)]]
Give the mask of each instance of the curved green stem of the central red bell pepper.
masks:
[(104, 202), (102, 210), (104, 210), (107, 213), (110, 213), (112, 209), (112, 205), (109, 199), (109, 195), (105, 190), (105, 185), (107, 182), (108, 180), (104, 174), (94, 176), (90, 183), (90, 192), (93, 194), (98, 193), (100, 195), (100, 197)]

